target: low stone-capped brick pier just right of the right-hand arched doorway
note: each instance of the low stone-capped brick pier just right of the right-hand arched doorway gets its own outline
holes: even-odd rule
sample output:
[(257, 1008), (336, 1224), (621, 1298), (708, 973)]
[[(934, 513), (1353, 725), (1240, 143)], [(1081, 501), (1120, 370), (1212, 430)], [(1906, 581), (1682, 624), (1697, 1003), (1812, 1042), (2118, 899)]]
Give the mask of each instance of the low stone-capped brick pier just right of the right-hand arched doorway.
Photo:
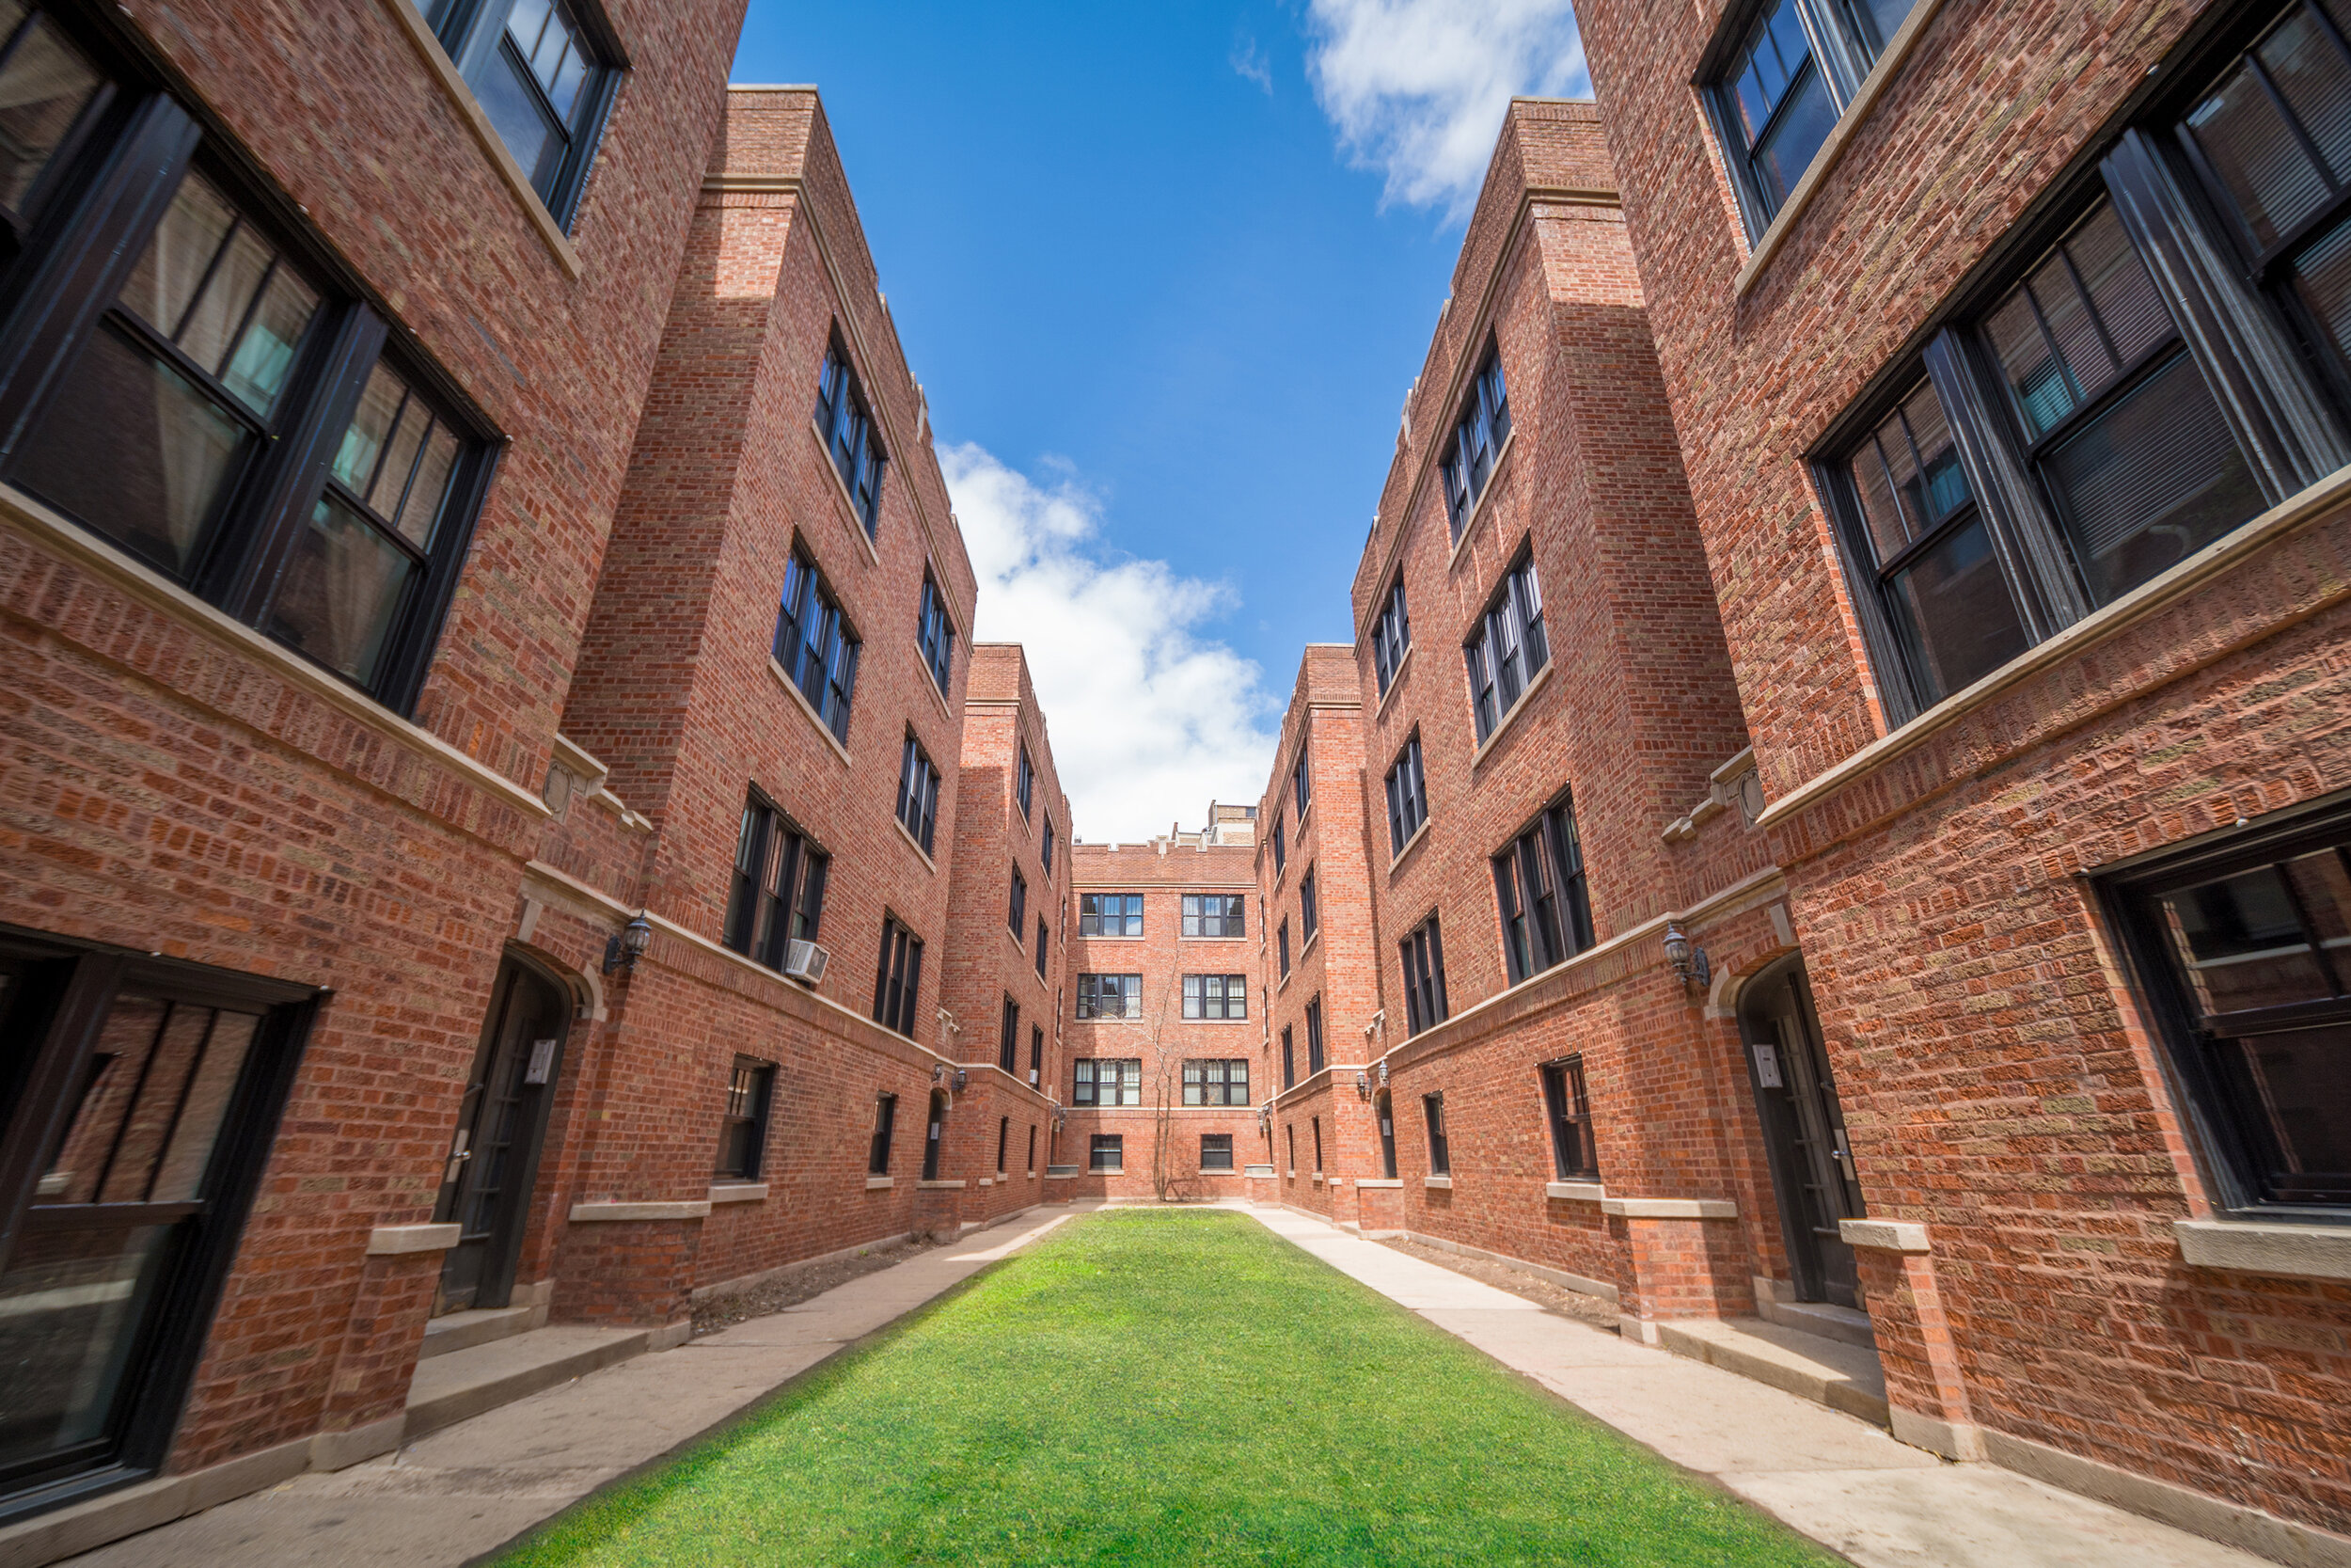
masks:
[(1860, 1262), (1895, 1436), (1949, 1460), (1982, 1460), (1984, 1436), (1968, 1413), (1968, 1385), (1935, 1284), (1925, 1225), (1843, 1220), (1841, 1234)]

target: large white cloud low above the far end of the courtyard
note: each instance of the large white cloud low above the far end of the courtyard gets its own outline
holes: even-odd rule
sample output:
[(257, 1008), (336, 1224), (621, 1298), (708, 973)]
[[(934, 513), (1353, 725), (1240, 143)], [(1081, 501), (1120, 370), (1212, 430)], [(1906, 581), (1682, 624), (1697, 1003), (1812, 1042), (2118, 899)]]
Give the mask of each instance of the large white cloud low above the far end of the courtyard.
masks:
[(1067, 468), (1039, 484), (978, 444), (940, 447), (980, 581), (976, 637), (1027, 646), (1053, 762), (1089, 842), (1199, 827), (1253, 802), (1274, 759), (1265, 672), (1197, 635), (1230, 588), (1159, 559), (1100, 559), (1103, 503)]

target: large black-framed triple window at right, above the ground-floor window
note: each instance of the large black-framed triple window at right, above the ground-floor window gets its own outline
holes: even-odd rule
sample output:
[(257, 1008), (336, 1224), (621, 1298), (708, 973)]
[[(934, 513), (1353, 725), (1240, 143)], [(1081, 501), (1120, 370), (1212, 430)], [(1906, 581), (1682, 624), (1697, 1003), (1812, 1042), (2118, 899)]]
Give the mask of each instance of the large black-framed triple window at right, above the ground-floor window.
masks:
[(1890, 722), (2351, 461), (2351, 49), (2252, 26), (1822, 442)]

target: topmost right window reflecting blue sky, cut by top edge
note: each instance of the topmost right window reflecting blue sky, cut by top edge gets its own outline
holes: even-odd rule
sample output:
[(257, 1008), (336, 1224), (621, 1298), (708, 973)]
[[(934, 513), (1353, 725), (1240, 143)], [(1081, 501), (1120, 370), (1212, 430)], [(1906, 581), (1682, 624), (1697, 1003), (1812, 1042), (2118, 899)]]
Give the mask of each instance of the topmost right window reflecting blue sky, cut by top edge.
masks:
[(1813, 167), (1836, 118), (1911, 5), (1914, 0), (1763, 0), (1759, 9), (1737, 12), (1737, 31), (1726, 33), (1712, 52), (1723, 54), (1721, 45), (1730, 45), (1721, 71), (1709, 73), (1707, 108), (1749, 240), (1770, 226)]

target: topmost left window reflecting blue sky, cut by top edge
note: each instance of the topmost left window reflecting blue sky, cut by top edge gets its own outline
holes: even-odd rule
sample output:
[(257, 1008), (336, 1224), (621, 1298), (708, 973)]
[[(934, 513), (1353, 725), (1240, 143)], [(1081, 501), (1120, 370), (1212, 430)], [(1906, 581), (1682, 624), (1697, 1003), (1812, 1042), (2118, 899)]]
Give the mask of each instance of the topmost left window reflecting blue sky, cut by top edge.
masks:
[(571, 228), (621, 80), (611, 28), (567, 0), (426, 0), (426, 19), (531, 190)]

